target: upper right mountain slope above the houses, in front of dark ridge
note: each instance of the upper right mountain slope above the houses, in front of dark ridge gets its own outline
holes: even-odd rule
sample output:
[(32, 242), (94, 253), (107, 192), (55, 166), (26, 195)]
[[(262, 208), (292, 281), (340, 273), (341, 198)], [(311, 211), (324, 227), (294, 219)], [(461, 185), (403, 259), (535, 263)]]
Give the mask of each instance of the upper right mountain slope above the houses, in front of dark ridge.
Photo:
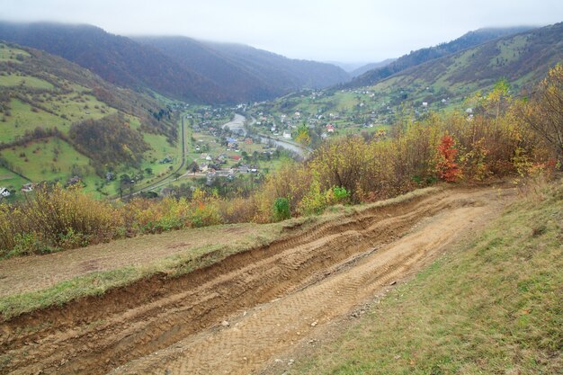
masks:
[(493, 85), (500, 78), (520, 88), (540, 80), (550, 67), (562, 60), (563, 22), (559, 22), (411, 67), (374, 88), (428, 87), (425, 91), (430, 94), (437, 90), (469, 94)]

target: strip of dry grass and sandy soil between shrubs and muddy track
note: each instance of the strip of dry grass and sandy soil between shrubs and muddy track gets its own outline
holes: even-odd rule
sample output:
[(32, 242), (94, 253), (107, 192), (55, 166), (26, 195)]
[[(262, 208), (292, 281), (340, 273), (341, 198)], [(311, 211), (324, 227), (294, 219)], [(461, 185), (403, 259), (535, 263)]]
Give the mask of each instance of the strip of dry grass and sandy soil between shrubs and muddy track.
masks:
[[(426, 188), (360, 206), (334, 206), (325, 214), (273, 224), (192, 228), (113, 241), (58, 254), (0, 262), (0, 314), (4, 319), (80, 297), (101, 295), (164, 272), (173, 277), (219, 262), (230, 254), (306, 232), (329, 221), (441, 192)], [(212, 256), (209, 256), (212, 254)]]

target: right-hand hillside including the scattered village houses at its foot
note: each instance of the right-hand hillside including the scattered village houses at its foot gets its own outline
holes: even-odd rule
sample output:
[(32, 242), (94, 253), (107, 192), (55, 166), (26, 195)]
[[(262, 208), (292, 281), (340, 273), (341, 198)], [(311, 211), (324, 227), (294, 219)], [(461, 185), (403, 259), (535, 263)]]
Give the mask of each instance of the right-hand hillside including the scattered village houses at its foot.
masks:
[[(466, 111), (478, 104), (468, 98), (487, 93), (501, 78), (510, 94), (523, 94), (563, 60), (562, 40), (563, 23), (557, 23), (435, 58), (376, 85), (290, 94), (248, 114), (262, 119), (263, 133), (273, 124), (281, 133), (308, 121), (317, 142), (326, 136), (389, 130), (405, 113), (420, 119), (431, 111)], [(329, 124), (335, 130), (326, 134)]]

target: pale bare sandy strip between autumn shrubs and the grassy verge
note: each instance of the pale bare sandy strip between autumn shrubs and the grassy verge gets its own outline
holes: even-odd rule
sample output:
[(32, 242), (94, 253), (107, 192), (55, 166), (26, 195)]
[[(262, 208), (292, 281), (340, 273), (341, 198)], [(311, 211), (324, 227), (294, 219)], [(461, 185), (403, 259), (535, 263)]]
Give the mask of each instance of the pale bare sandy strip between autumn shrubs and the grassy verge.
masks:
[(113, 241), (56, 254), (12, 258), (0, 263), (0, 297), (46, 289), (91, 272), (142, 266), (205, 246), (238, 246), (264, 236), (253, 225), (210, 227)]

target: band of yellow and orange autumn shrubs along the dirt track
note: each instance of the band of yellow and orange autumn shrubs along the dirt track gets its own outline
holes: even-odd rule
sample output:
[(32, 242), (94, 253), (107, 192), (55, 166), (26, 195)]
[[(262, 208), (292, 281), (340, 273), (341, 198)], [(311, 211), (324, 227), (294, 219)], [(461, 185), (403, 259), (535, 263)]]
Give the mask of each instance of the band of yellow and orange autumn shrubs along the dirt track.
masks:
[(225, 199), (196, 189), (190, 198), (110, 203), (76, 189), (42, 187), (18, 205), (0, 205), (0, 256), (179, 228), (273, 222), (386, 199), (439, 180), (473, 183), (554, 170), (561, 163), (561, 108), (550, 103), (563, 97), (563, 70), (554, 69), (532, 103), (515, 101), (501, 83), (471, 99), (473, 116), (431, 113), (424, 121), (403, 119), (373, 138), (337, 138), (305, 163), (281, 165), (250, 196)]

